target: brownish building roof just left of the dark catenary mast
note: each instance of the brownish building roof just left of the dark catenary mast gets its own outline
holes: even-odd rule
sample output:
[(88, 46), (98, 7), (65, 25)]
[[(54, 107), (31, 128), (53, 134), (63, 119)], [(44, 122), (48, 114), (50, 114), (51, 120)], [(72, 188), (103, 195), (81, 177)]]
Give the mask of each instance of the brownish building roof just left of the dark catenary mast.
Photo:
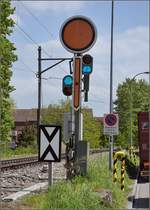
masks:
[(36, 122), (37, 109), (16, 109), (13, 111), (15, 122)]

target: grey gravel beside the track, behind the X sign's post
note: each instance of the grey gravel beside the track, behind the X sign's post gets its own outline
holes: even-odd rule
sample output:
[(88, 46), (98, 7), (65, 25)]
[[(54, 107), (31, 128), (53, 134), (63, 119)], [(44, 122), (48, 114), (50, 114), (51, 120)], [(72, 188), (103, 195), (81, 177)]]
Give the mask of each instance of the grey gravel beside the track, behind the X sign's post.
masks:
[[(66, 170), (64, 168), (65, 161), (53, 163), (54, 181), (65, 179)], [(19, 169), (11, 169), (1, 172), (1, 198), (8, 196), (30, 187), (39, 182), (45, 182), (48, 179), (48, 164), (40, 163)]]

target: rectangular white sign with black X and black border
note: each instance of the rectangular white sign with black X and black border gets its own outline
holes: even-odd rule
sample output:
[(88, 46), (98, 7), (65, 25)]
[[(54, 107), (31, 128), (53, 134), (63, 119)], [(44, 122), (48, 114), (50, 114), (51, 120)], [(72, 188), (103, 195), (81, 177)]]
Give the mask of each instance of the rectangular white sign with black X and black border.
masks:
[(39, 161), (60, 162), (61, 127), (40, 125), (39, 133)]

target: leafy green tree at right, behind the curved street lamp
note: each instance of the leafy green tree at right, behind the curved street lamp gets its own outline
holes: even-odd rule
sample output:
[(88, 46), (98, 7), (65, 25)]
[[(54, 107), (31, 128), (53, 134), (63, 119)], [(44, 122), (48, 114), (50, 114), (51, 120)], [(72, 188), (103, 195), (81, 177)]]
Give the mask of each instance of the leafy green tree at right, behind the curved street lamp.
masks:
[[(133, 143), (137, 145), (137, 113), (148, 111), (149, 86), (145, 80), (126, 79), (119, 84), (117, 89), (117, 100), (114, 102), (115, 111), (119, 114), (119, 131), (116, 144), (127, 147), (130, 144), (130, 120), (132, 117)], [(132, 116), (131, 116), (132, 115)]]

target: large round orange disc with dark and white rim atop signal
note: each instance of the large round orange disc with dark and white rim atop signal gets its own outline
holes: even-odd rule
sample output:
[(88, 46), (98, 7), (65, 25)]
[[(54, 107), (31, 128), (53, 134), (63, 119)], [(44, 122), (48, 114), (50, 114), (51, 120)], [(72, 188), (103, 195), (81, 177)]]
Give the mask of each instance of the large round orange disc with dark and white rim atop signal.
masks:
[(97, 31), (94, 23), (84, 16), (67, 19), (60, 29), (60, 41), (72, 53), (84, 53), (96, 42)]

